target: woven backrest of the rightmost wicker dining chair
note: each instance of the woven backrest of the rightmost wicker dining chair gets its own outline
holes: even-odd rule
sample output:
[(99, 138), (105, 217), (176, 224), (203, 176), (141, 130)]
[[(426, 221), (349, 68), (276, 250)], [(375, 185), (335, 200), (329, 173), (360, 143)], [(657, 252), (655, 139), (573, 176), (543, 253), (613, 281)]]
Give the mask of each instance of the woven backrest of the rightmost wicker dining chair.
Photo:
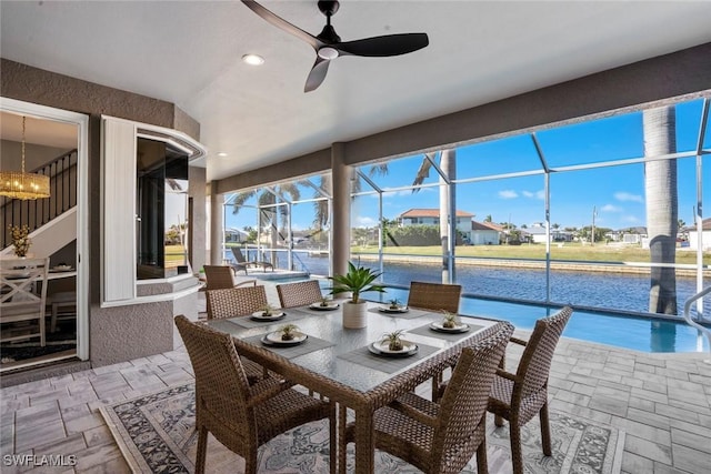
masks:
[(535, 322), (519, 362), (517, 377), (520, 382), (513, 387), (512, 404), (548, 386), (553, 353), (572, 313), (573, 310), (565, 306), (558, 313)]

